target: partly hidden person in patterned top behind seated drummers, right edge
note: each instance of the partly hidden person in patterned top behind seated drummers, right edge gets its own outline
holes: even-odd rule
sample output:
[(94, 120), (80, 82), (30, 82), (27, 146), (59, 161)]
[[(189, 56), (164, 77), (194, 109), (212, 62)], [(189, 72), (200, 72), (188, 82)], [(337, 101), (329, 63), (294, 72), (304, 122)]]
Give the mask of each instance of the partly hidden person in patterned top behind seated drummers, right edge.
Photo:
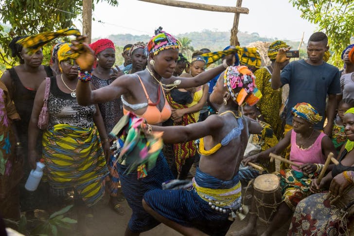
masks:
[(344, 113), (351, 107), (354, 107), (354, 99), (343, 99), (338, 103), (338, 114), (332, 128), (332, 142), (336, 150), (339, 152), (342, 146), (347, 141), (347, 136), (344, 132), (343, 117)]

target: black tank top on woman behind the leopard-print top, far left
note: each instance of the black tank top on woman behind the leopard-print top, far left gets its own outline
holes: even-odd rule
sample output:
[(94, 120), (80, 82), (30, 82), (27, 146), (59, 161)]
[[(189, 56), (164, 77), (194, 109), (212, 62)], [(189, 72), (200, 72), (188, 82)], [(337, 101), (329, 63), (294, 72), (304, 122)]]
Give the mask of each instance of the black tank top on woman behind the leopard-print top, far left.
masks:
[[(51, 67), (44, 66), (44, 69), (48, 77), (53, 76)], [(21, 118), (19, 122), (16, 122), (16, 127), (18, 129), (21, 142), (27, 144), (28, 123), (30, 122), (36, 91), (29, 90), (23, 86), (14, 67), (8, 69), (8, 71), (12, 79), (13, 101), (15, 103), (18, 115)], [(43, 80), (44, 79), (45, 78), (43, 78)]]

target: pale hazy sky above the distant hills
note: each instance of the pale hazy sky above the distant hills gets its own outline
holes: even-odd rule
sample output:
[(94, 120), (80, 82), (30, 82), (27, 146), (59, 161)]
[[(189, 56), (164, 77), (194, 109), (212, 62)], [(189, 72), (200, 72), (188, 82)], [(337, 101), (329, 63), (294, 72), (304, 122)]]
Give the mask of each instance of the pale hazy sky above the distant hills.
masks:
[[(236, 0), (190, 0), (198, 3), (235, 6)], [(288, 0), (243, 0), (243, 7), (249, 14), (241, 14), (239, 30), (257, 32), (261, 36), (279, 39), (300, 40), (316, 31), (316, 26), (301, 19), (301, 12)], [(230, 31), (233, 13), (219, 13), (184, 9), (148, 3), (138, 0), (119, 0), (119, 6), (112, 7), (99, 2), (93, 12), (92, 37), (105, 37), (109, 34), (149, 34), (162, 26), (171, 34), (202, 31)], [(99, 23), (98, 20), (105, 22)], [(78, 28), (81, 23), (76, 22)]]

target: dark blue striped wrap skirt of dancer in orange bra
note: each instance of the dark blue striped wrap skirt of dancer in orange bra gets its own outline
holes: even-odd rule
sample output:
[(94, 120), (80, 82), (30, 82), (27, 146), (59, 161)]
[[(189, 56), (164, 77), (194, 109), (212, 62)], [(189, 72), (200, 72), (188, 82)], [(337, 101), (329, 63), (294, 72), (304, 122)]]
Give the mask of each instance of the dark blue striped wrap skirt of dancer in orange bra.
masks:
[(142, 207), (142, 197), (145, 192), (153, 189), (162, 189), (162, 183), (174, 179), (167, 161), (162, 152), (156, 161), (156, 166), (147, 171), (147, 176), (138, 179), (137, 171), (127, 174), (127, 166), (117, 163), (121, 188), (126, 201), (133, 213), (128, 223), (129, 229), (133, 233), (142, 233), (148, 231), (160, 222), (147, 213)]

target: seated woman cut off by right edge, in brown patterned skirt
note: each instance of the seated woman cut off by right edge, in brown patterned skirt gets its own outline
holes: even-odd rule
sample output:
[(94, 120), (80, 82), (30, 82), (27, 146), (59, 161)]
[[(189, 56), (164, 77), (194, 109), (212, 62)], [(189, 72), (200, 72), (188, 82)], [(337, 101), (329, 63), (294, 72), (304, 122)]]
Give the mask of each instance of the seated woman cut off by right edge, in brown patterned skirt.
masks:
[[(331, 206), (330, 202), (337, 196), (345, 197), (344, 190), (354, 186), (354, 108), (345, 113), (343, 123), (349, 140), (340, 150), (340, 164), (335, 166), (319, 185), (317, 181), (313, 181), (311, 185), (311, 189), (317, 192), (330, 184), (329, 192), (313, 194), (299, 202), (291, 220), (288, 236), (348, 235), (347, 223), (350, 222), (348, 220), (350, 216), (346, 214), (346, 209)], [(349, 194), (352, 195), (345, 197), (349, 203), (348, 208), (354, 203), (353, 193), (354, 191), (351, 191)], [(307, 224), (306, 228), (303, 228), (304, 224)]]

